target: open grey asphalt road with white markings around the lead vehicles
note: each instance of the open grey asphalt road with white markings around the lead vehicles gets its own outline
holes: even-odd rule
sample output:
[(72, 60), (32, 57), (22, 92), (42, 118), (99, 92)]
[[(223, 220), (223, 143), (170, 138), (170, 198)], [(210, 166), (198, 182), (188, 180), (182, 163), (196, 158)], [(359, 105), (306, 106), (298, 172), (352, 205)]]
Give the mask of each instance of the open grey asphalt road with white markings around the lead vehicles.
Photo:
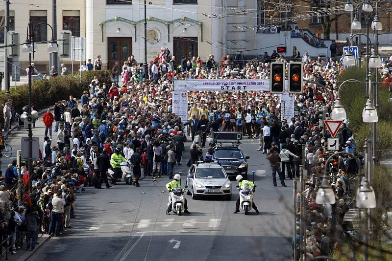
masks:
[[(110, 189), (86, 188), (77, 195), (72, 228), (51, 238), (30, 260), (165, 261), (290, 260), (293, 187), (273, 187), (265, 155), (256, 152), (257, 141), (245, 140), (245, 154), (256, 170), (254, 200), (260, 214), (233, 214), (237, 191), (231, 201), (220, 198), (188, 200), (190, 215), (165, 215), (168, 177), (150, 178), (140, 188), (120, 183)], [(185, 184), (189, 153), (183, 157)], [(235, 187), (235, 181), (232, 181)], [(103, 186), (104, 187), (104, 186)]]

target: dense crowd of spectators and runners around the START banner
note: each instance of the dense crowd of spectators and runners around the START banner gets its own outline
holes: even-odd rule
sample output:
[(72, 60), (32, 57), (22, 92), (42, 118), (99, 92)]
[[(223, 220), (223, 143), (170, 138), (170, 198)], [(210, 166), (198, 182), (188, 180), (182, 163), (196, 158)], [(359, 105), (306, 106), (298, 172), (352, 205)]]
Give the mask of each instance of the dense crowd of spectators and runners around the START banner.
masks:
[[(301, 58), (296, 49), (294, 54), (304, 63), (306, 79), (317, 81), (333, 96), (338, 96), (337, 76), (344, 73), (339, 61), (312, 58), (307, 52)], [(306, 161), (309, 174), (322, 175), (330, 134), (320, 123), (320, 117), (323, 113), (328, 117), (332, 100), (324, 89), (314, 84), (305, 84), (303, 93), (295, 96), (294, 117), (290, 120), (281, 119), (279, 96), (265, 91), (189, 91), (189, 120), (172, 113), (173, 79), (267, 79), (271, 61), (289, 62), (284, 55), (275, 51), (271, 56), (265, 53), (262, 61), (246, 61), (242, 53), (224, 56), (221, 61), (215, 61), (214, 55), (207, 61), (198, 56), (183, 57), (180, 64), (175, 61), (168, 48), (162, 48), (147, 66), (130, 56), (123, 65), (116, 63), (109, 68), (113, 75), (111, 86), (95, 77), (85, 88), (80, 104), (76, 97), (70, 96), (56, 102), (43, 115), (42, 160), (33, 162), (31, 174), (25, 164), (22, 166), (20, 204), (16, 197), (19, 175), (16, 161), (8, 166), (0, 180), (3, 184), (0, 233), (8, 242), (9, 253), (14, 253), (24, 237), (28, 242), (26, 248), (34, 249), (39, 233), (61, 236), (75, 217), (76, 193), (82, 193), (85, 186), (100, 189), (103, 182), (107, 188), (111, 187), (108, 169), (114, 173), (113, 185), (122, 178), (121, 162), (129, 163), (135, 186), (140, 186), (139, 180), (147, 176), (172, 178), (175, 165), (182, 164), (182, 153), (188, 150), (187, 139), (192, 141), (189, 165), (202, 155), (206, 137), (212, 131), (242, 131), (245, 137), (259, 140), (258, 151), (268, 158), (278, 153), (271, 167), (279, 174), (282, 185), (286, 178), (299, 176), (302, 160)], [(101, 68), (100, 56), (94, 64), (89, 60), (81, 66), (81, 70)], [(392, 62), (387, 61), (382, 69), (385, 84), (391, 82), (391, 70)], [(3, 110), (6, 124), (12, 117), (9, 103), (12, 105), (8, 101)], [(8, 128), (6, 125), (4, 130)], [(347, 121), (337, 137), (344, 150), (356, 153), (355, 136)], [(309, 190), (305, 203), (309, 217), (307, 248), (314, 256), (333, 250), (336, 238), (331, 237), (332, 228), (348, 208), (344, 201), (349, 187), (347, 175), (355, 173), (360, 166), (349, 155), (337, 160), (339, 176), (332, 184), (336, 188), (336, 204), (314, 203), (319, 178), (313, 177), (306, 187)], [(276, 186), (276, 179), (273, 185)]]

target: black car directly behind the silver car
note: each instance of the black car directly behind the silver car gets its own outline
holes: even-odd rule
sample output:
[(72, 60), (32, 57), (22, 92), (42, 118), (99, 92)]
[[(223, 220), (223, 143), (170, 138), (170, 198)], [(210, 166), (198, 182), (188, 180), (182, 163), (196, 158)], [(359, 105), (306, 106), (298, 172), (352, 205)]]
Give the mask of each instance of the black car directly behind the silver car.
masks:
[(212, 158), (221, 163), (229, 178), (235, 178), (237, 175), (247, 178), (248, 163), (246, 160), (249, 156), (244, 155), (238, 146), (218, 146)]

